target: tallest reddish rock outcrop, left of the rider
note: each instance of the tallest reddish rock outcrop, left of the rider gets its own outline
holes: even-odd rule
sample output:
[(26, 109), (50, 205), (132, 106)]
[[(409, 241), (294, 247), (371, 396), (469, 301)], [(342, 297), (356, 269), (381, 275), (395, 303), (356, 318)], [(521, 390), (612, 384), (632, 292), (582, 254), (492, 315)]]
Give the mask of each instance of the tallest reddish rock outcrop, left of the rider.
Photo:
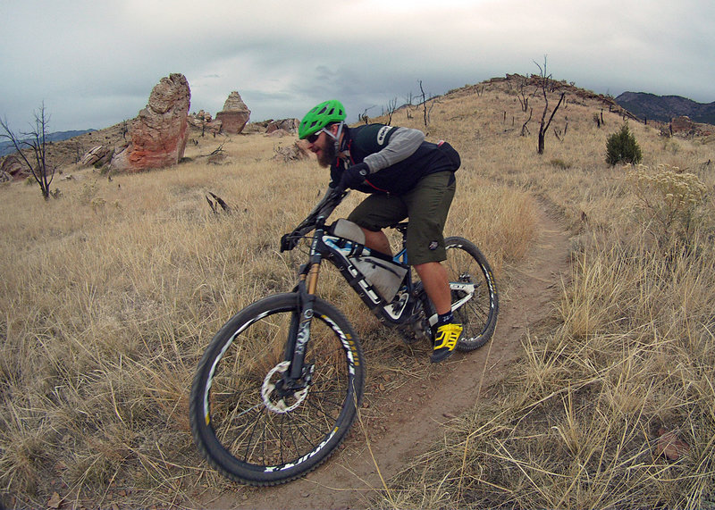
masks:
[(164, 77), (151, 91), (147, 107), (130, 122), (130, 142), (114, 153), (117, 171), (144, 171), (179, 163), (188, 134), (191, 91), (183, 74)]

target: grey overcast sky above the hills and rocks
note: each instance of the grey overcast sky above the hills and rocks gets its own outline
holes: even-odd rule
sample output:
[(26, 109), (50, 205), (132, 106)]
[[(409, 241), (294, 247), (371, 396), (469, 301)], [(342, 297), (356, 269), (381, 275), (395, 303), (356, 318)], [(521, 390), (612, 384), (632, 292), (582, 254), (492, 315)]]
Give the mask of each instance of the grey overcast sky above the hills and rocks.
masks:
[(191, 112), (232, 90), (251, 121), (340, 99), (349, 121), (410, 93), (538, 73), (613, 96), (715, 101), (712, 0), (0, 0), (0, 118), (50, 131), (134, 118), (181, 72)]

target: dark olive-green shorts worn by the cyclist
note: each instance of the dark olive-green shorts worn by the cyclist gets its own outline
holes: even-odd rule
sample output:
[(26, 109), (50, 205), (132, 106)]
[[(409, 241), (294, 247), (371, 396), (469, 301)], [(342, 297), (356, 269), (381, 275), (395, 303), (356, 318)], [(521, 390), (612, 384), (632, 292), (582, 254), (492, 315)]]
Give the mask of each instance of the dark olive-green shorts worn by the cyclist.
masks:
[(404, 195), (368, 196), (348, 219), (377, 231), (409, 218), (408, 262), (442, 262), (447, 258), (442, 232), (456, 188), (454, 172), (431, 173)]

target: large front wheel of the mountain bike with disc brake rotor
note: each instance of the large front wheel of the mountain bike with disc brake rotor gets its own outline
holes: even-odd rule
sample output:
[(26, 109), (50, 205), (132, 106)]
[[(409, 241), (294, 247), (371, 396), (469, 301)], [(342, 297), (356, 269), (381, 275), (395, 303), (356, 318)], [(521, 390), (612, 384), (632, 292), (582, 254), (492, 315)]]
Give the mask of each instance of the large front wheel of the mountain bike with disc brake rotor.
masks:
[(286, 344), (299, 306), (297, 293), (249, 305), (216, 333), (198, 364), (191, 431), (206, 461), (232, 480), (275, 485), (315, 469), (357, 414), (362, 350), (349, 322), (320, 298), (303, 375), (288, 378)]

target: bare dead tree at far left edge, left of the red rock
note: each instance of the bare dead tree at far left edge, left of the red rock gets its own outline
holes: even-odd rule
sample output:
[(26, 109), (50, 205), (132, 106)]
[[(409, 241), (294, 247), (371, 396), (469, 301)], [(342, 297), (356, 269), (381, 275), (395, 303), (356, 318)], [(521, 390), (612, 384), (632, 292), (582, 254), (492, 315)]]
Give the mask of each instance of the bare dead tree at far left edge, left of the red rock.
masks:
[(40, 191), (45, 200), (49, 200), (50, 184), (55, 178), (55, 166), (47, 162), (47, 126), (49, 116), (45, 112), (43, 102), (39, 110), (35, 111), (34, 130), (29, 133), (16, 135), (7, 123), (7, 120), (0, 121), (0, 127), (4, 133), (0, 133), (0, 138), (7, 138), (15, 147), (22, 163), (28, 168), (32, 177), (37, 181)]

